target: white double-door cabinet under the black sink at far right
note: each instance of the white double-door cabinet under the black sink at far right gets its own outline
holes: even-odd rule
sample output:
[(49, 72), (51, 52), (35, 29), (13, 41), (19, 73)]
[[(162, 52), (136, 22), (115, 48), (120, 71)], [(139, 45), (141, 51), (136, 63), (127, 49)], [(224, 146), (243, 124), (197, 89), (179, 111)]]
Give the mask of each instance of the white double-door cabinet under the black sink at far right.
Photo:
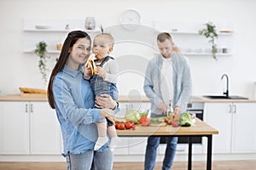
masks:
[(205, 103), (205, 122), (218, 130), (212, 153), (256, 153), (255, 103)]

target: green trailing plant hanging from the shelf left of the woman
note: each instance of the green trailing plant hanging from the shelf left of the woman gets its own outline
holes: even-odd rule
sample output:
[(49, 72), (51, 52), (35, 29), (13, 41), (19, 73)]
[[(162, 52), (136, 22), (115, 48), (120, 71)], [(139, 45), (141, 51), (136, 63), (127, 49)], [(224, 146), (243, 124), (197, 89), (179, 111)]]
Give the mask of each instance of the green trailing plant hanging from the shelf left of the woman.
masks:
[(38, 42), (35, 49), (35, 54), (37, 54), (39, 57), (38, 68), (45, 84), (47, 82), (46, 71), (48, 71), (46, 63), (47, 63), (47, 59), (49, 58), (46, 48), (47, 48), (47, 43), (42, 41), (42, 42)]

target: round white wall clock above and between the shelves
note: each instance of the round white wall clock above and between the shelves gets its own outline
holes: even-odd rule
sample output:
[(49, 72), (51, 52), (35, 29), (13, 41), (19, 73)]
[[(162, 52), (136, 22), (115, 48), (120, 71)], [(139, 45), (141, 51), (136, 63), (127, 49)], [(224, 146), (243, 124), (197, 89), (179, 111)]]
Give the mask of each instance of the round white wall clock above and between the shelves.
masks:
[(134, 9), (125, 10), (121, 14), (120, 23), (126, 30), (135, 30), (141, 24), (141, 15)]

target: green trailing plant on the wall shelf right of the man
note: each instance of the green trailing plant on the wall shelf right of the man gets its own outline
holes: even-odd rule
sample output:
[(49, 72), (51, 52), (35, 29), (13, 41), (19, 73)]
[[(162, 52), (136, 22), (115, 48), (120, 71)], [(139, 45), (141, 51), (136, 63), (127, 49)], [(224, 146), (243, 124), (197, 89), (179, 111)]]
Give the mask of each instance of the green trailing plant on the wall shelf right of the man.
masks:
[(198, 33), (202, 36), (205, 36), (207, 39), (209, 39), (208, 42), (212, 47), (212, 58), (217, 60), (217, 57), (216, 57), (217, 45), (215, 40), (218, 38), (218, 34), (216, 31), (216, 26), (211, 21), (207, 22), (205, 25), (207, 26), (207, 28), (204, 28), (198, 31)]

